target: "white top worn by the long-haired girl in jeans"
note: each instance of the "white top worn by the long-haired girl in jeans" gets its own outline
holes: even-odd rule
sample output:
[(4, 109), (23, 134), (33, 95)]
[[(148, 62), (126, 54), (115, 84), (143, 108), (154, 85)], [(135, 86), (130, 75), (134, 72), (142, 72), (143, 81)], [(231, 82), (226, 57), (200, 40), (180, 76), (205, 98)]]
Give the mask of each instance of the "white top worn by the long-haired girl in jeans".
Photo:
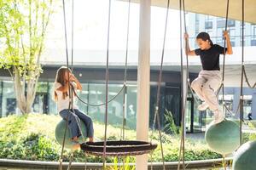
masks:
[[(72, 84), (73, 84), (73, 87), (76, 90), (77, 89), (77, 84), (75, 82), (72, 82)], [(69, 96), (66, 96), (66, 98), (63, 99), (63, 93), (60, 90), (57, 90), (58, 88), (61, 88), (61, 86), (62, 85), (61, 85), (60, 82), (55, 82), (54, 83), (55, 92), (57, 94), (56, 104), (57, 104), (57, 109), (58, 109), (59, 112), (62, 111), (62, 110), (68, 109), (69, 101), (71, 100), (71, 99), (69, 99)], [(69, 95), (68, 91), (67, 91), (67, 94)], [(75, 96), (74, 93), (73, 93), (73, 107), (70, 107), (70, 108), (79, 109), (79, 107), (76, 105), (76, 96)]]

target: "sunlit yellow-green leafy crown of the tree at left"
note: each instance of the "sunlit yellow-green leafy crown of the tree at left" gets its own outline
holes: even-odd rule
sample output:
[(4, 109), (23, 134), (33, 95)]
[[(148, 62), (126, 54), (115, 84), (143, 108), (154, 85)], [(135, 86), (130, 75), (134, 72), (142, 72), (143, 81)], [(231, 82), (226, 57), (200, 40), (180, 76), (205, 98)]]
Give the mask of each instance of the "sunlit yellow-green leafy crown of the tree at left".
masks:
[(0, 0), (0, 68), (15, 66), (20, 76), (40, 69), (38, 58), (52, 12), (52, 0)]

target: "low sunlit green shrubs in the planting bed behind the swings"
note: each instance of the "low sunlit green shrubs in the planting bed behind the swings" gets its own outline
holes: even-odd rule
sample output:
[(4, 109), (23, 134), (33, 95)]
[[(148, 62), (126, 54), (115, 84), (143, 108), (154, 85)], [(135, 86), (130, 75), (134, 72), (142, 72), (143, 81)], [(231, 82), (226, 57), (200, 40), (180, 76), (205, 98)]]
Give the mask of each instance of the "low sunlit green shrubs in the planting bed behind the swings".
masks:
[[(61, 154), (61, 145), (55, 140), (55, 126), (61, 120), (60, 116), (44, 114), (28, 114), (25, 116), (8, 116), (0, 118), (0, 158), (58, 161)], [(96, 140), (103, 139), (104, 125), (94, 122)], [(108, 125), (108, 139), (119, 139), (119, 127)], [(148, 132), (151, 133), (151, 132)], [(126, 139), (136, 139), (136, 132), (125, 131)], [(180, 137), (162, 133), (165, 161), (177, 161)], [(161, 161), (159, 134), (154, 132), (152, 142), (158, 147), (148, 155), (149, 161)], [(185, 159), (187, 161), (213, 159), (221, 157), (207, 148), (207, 144), (200, 139), (186, 139)], [(63, 161), (68, 161), (69, 150), (64, 150)], [(116, 163), (117, 158), (108, 157), (108, 162)], [(83, 151), (74, 152), (74, 161), (84, 162)], [(102, 157), (87, 156), (86, 161), (102, 162)], [(133, 169), (128, 162), (134, 162), (134, 157), (125, 158), (125, 169)], [(114, 169), (115, 167), (113, 167)]]

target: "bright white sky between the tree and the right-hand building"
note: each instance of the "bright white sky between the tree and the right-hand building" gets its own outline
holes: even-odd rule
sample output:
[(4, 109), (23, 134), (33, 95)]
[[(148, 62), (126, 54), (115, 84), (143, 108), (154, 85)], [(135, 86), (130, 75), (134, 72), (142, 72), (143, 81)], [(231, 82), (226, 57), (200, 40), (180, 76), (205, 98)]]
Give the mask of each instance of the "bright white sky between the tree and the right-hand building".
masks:
[[(61, 1), (60, 1), (61, 2)], [(129, 3), (112, 0), (110, 17), (109, 48), (115, 50), (125, 49)], [(71, 42), (71, 15), (72, 1), (66, 1), (67, 36)], [(166, 8), (152, 8), (151, 38), (154, 39), (151, 48), (162, 48)], [(179, 13), (169, 10), (169, 20), (166, 37), (176, 39), (179, 37)], [(131, 3), (131, 16), (129, 27), (129, 48), (137, 49), (139, 31), (139, 4)], [(74, 48), (77, 49), (105, 49), (108, 34), (108, 0), (74, 0)], [(49, 26), (47, 46), (65, 48), (64, 24), (61, 3), (52, 16)], [(56, 46), (57, 45), (57, 46)], [(69, 43), (69, 46), (71, 44)], [(166, 42), (168, 46), (168, 42)], [(168, 47), (172, 48), (172, 46)]]

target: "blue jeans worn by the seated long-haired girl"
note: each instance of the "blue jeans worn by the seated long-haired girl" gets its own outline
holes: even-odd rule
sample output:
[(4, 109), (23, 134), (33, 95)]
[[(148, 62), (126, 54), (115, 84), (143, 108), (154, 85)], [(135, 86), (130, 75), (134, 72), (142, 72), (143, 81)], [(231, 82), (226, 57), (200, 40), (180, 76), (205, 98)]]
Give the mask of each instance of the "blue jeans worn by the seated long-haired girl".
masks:
[(70, 112), (68, 109), (60, 111), (60, 115), (64, 120), (68, 120), (68, 127), (71, 131), (72, 138), (81, 136), (81, 131), (79, 129), (79, 121), (81, 120), (84, 122), (84, 125), (86, 127), (86, 132), (88, 138), (93, 138), (93, 122), (90, 118), (90, 116), (87, 116), (84, 114), (84, 112), (79, 111), (77, 109), (71, 110)]

